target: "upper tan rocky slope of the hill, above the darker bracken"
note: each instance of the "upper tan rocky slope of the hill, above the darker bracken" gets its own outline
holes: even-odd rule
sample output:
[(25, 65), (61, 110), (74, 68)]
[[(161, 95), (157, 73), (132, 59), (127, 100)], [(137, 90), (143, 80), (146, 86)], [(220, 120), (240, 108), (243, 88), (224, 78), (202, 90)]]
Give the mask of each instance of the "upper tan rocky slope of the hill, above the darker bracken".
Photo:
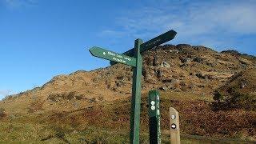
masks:
[[(158, 46), (143, 54), (142, 93), (158, 89), (190, 91), (211, 97), (232, 75), (255, 66), (252, 56), (218, 53), (204, 46)], [(54, 77), (45, 85), (6, 98), (7, 113), (77, 110), (95, 102), (130, 97), (132, 70), (117, 64), (92, 71)]]

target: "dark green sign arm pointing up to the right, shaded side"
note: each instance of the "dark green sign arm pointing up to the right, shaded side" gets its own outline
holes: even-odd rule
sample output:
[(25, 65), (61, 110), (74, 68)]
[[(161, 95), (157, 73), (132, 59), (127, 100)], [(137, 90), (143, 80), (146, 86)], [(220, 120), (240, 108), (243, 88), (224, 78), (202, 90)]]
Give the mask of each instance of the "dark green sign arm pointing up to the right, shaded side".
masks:
[[(149, 49), (153, 48), (154, 46), (158, 46), (158, 45), (161, 45), (162, 43), (168, 42), (168, 41), (174, 39), (176, 34), (177, 34), (176, 31), (169, 30), (169, 31), (167, 31), (164, 34), (158, 35), (158, 37), (152, 38), (149, 41), (142, 43), (142, 45), (140, 46), (141, 47), (140, 48), (141, 49), (140, 52), (142, 53), (142, 52), (144, 52), (146, 50), (149, 50)], [(130, 57), (133, 57), (134, 54), (135, 54), (134, 52), (135, 52), (134, 49), (130, 49), (130, 50), (124, 52), (123, 54), (125, 54), (127, 56), (130, 56)], [(117, 62), (111, 61), (110, 65), (114, 65), (116, 63)]]

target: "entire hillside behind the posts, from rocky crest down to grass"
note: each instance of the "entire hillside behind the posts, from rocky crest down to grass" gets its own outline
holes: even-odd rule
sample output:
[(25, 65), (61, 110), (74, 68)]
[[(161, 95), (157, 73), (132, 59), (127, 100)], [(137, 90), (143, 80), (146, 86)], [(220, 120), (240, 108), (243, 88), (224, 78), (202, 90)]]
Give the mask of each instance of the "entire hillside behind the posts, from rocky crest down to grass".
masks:
[[(142, 143), (148, 140), (146, 98), (152, 89), (161, 91), (166, 142), (170, 106), (180, 113), (183, 140), (198, 135), (255, 141), (254, 56), (186, 44), (158, 46), (142, 56)], [(11, 95), (0, 102), (0, 141), (128, 142), (131, 83), (131, 67), (116, 64), (58, 75)]]

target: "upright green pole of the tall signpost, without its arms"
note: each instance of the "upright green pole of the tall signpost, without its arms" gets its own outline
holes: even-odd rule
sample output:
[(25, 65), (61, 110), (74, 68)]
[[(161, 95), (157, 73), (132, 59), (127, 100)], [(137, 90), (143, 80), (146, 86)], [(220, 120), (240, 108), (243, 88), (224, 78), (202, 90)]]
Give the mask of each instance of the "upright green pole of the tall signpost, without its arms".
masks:
[(136, 67), (134, 67), (133, 87), (131, 98), (130, 112), (130, 143), (139, 143), (139, 125), (140, 125), (140, 109), (141, 109), (141, 78), (142, 78), (142, 55), (140, 53), (141, 39), (136, 39), (134, 42), (135, 54), (137, 59)]

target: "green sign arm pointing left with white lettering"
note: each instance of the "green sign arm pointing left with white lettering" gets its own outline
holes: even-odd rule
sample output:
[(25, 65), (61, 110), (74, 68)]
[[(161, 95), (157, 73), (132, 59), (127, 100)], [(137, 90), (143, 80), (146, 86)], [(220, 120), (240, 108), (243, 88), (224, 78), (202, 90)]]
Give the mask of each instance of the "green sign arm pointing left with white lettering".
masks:
[(136, 67), (136, 58), (132, 58), (123, 54), (118, 54), (113, 51), (105, 50), (97, 46), (90, 48), (90, 54), (92, 54), (94, 57), (104, 58), (106, 60), (119, 62), (129, 66)]

